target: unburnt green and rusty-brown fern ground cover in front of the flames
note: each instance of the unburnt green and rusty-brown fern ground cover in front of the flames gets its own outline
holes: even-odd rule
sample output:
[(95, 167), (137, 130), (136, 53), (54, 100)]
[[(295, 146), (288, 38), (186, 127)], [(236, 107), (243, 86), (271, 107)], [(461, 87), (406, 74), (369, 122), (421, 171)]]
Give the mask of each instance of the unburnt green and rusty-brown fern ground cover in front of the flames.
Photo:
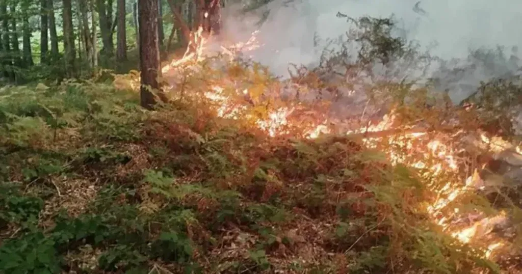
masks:
[(2, 273), (498, 271), (347, 137), (270, 138), (90, 81), (0, 91)]

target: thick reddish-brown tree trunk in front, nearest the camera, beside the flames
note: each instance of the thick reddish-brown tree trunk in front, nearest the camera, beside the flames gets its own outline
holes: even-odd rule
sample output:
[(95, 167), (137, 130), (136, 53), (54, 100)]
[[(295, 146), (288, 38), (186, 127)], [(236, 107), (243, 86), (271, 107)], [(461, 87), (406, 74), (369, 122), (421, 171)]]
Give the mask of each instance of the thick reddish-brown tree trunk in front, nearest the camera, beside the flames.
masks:
[(158, 76), (161, 72), (157, 0), (140, 0), (138, 23), (140, 28), (141, 106), (150, 110), (157, 103), (157, 97), (153, 92), (159, 90)]

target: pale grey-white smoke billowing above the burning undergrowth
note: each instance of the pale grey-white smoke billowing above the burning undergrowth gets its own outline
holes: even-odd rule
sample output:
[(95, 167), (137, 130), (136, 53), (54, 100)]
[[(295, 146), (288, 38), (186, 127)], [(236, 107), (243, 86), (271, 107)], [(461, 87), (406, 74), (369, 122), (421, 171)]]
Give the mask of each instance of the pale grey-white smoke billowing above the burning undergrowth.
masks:
[[(352, 18), (393, 15), (396, 35), (440, 58), (429, 77), (438, 78), (439, 88), (449, 89), (455, 103), (481, 80), (514, 74), (520, 66), (514, 47), (522, 45), (522, 2), (517, 0), (275, 0), (246, 15), (238, 9), (231, 5), (223, 11), (224, 35), (241, 41), (259, 30), (263, 46), (248, 54), (276, 75), (288, 76), (289, 63), (317, 64), (326, 39), (338, 39), (350, 27), (346, 18), (336, 17), (339, 12)], [(497, 46), (505, 47), (503, 54)]]

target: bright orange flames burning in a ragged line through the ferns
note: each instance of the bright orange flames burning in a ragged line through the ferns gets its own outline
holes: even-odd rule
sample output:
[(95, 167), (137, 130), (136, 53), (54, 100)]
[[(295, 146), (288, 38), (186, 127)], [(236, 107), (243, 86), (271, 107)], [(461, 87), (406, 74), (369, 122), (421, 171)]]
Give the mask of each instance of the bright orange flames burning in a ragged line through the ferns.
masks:
[[(203, 60), (207, 42), (208, 40), (203, 37), (203, 29), (200, 27), (191, 36), (191, 41), (183, 57), (165, 65), (162, 68), (163, 74), (167, 74), (170, 70), (189, 62)], [(256, 49), (259, 46), (256, 40), (256, 32), (254, 32), (251, 39), (245, 43), (238, 43), (228, 47), (221, 46), (221, 53), (229, 55), (233, 59), (239, 52)], [(232, 102), (230, 96), (223, 94), (224, 89), (224, 87), (215, 85), (211, 90), (204, 92), (204, 97), (216, 103), (218, 116), (237, 120), (241, 117), (241, 113), (246, 106)], [(248, 96), (250, 92), (248, 89), (236, 89), (236, 93), (240, 96)], [(289, 127), (293, 127), (294, 121), (291, 119), (291, 114), (294, 111), (294, 105), (283, 106), (269, 111), (265, 119), (258, 119), (255, 124), (264, 130), (268, 136), (288, 135), (291, 133)], [(497, 216), (484, 217), (479, 212), (477, 214), (479, 218), (471, 218), (469, 217), (470, 214), (459, 214), (458, 208), (451, 209), (453, 201), (477, 189), (481, 181), (478, 175), (479, 169), (475, 168), (472, 170), (472, 175), (465, 180), (459, 178), (457, 175), (459, 173), (459, 163), (455, 157), (455, 154), (458, 152), (457, 149), (446, 144), (442, 139), (430, 139), (432, 137), (430, 137), (428, 132), (398, 132), (384, 136), (364, 136), (366, 133), (378, 133), (394, 129), (392, 126), (394, 119), (395, 115), (385, 115), (382, 122), (376, 125), (362, 126), (357, 130), (349, 130), (346, 132), (346, 135), (363, 136), (363, 142), (367, 147), (385, 150), (385, 154), (387, 154), (388, 159), (392, 163), (409, 165), (411, 168), (419, 170), (420, 174), (426, 178), (433, 178), (444, 172), (454, 174), (453, 180), (447, 182), (443, 187), (437, 188), (434, 186), (433, 196), (436, 198), (431, 202), (430, 206), (425, 208), (425, 211), (432, 216), (435, 224), (462, 243), (469, 243), (473, 246), (474, 239), (480, 239), (480, 246), (483, 246), (487, 242), (485, 244), (487, 247), (481, 247), (480, 250), (482, 250), (484, 257), (491, 257), (497, 249), (504, 246), (504, 243), (495, 237), (486, 238), (485, 236), (493, 230), (495, 225), (506, 221), (506, 213), (501, 212)], [(333, 132), (334, 128), (330, 127), (327, 121), (316, 121), (315, 124), (308, 125), (306, 128), (300, 128), (300, 130), (304, 137), (314, 139), (322, 134)], [(480, 138), (480, 145), (488, 147), (493, 152), (498, 152), (507, 146), (507, 142), (501, 138), (494, 138), (494, 141), (485, 135), (480, 135)], [(492, 143), (494, 144), (492, 145)], [(400, 149), (388, 149), (391, 147), (399, 147)], [(516, 149), (520, 151), (520, 148), (517, 147)], [(427, 158), (430, 161), (424, 161)], [(468, 219), (472, 222), (464, 228), (454, 225), (455, 223), (461, 223), (460, 220), (463, 219)]]

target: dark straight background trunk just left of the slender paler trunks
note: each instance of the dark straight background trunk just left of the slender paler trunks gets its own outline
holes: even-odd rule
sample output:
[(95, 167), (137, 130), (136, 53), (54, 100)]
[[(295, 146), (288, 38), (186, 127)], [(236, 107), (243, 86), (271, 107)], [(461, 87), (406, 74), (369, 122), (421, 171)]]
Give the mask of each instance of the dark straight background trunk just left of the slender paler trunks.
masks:
[(66, 75), (75, 76), (76, 52), (74, 47), (73, 10), (71, 0), (63, 0), (63, 31)]

